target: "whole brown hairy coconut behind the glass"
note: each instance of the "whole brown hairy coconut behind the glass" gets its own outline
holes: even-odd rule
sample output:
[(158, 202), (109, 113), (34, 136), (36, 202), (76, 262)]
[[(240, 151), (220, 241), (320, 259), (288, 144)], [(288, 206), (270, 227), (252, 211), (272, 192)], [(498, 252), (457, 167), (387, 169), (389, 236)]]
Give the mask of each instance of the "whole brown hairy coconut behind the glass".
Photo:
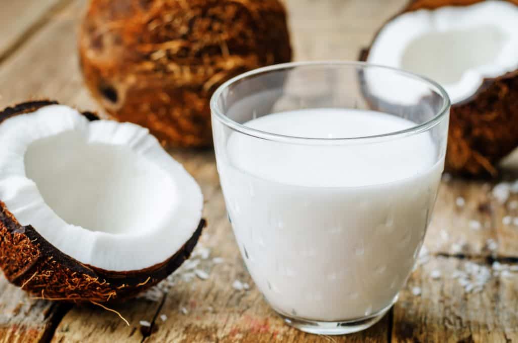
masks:
[(115, 119), (170, 146), (212, 142), (209, 99), (229, 78), (291, 61), (278, 0), (92, 0), (80, 28), (85, 83)]

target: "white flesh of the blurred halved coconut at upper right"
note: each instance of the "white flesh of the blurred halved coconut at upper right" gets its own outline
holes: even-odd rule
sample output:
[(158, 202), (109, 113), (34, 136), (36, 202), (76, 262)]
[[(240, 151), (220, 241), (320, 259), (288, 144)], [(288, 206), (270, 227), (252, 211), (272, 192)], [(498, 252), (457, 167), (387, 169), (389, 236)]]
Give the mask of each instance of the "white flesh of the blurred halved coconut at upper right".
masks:
[(367, 62), (424, 75), (439, 82), (452, 103), (462, 102), (484, 78), (518, 69), (518, 6), (484, 1), (404, 13), (382, 28)]

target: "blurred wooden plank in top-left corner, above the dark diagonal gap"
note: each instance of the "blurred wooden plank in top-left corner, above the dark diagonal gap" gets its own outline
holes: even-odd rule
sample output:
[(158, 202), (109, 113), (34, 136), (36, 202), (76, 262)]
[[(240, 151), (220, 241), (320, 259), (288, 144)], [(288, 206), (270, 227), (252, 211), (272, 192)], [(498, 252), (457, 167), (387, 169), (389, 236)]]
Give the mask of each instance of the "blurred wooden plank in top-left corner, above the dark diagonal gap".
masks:
[(0, 61), (44, 25), (67, 0), (5, 1), (0, 11)]

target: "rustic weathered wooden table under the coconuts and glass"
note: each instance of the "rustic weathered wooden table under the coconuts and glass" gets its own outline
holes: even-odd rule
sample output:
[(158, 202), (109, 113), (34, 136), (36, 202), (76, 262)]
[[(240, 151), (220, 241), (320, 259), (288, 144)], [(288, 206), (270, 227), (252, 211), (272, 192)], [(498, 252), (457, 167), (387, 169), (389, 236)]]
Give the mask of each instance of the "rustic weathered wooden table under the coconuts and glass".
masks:
[[(354, 60), (405, 0), (286, 3), (297, 60)], [(76, 29), (84, 5), (83, 0), (2, 2), (1, 107), (50, 97), (98, 110), (82, 85), (76, 56)], [(253, 286), (226, 220), (212, 151), (171, 153), (195, 176), (205, 195), (209, 226), (200, 245), (211, 249), (210, 259), (224, 259), (206, 265), (209, 279), (180, 278), (154, 301), (141, 298), (116, 306), (130, 321), (126, 326), (114, 313), (95, 306), (30, 299), (0, 276), (1, 342), (518, 341), (518, 273), (496, 273), (498, 264), (491, 268), (494, 261), (518, 261), (518, 226), (502, 224), (504, 216), (518, 216), (518, 210), (497, 202), (491, 184), (443, 181), (426, 236), (429, 255), (422, 256), (390, 313), (363, 333), (314, 336), (284, 325)], [(465, 199), (464, 206), (456, 205), (458, 197)], [(467, 292), (458, 278), (459, 270), (473, 269), (494, 274), (479, 292)], [(236, 279), (248, 282), (250, 290), (234, 289)], [(152, 324), (151, 330), (141, 330), (142, 320)]]

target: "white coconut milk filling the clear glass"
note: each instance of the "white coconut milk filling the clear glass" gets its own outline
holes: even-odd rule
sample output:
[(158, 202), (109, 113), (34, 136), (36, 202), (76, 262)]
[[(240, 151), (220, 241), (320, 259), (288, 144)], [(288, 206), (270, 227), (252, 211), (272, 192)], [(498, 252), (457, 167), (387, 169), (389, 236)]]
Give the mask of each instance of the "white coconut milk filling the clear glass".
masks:
[[(344, 138), (415, 124), (372, 111), (312, 109), (246, 125)], [(222, 153), (218, 167), (239, 248), (276, 310), (341, 321), (392, 304), (414, 265), (443, 169), (427, 132), (333, 146), (233, 133)]]

